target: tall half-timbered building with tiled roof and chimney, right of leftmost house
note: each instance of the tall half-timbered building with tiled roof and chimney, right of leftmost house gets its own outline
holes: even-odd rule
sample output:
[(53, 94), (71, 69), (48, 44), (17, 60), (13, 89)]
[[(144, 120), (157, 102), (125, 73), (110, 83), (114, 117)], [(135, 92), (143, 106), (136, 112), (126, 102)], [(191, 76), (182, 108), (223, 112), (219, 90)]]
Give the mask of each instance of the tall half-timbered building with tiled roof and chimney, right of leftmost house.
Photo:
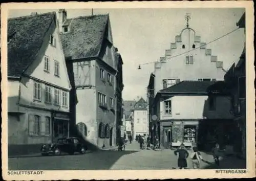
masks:
[(123, 62), (113, 44), (109, 14), (69, 19), (65, 9), (58, 13), (74, 124), (92, 145), (115, 146), (122, 119)]

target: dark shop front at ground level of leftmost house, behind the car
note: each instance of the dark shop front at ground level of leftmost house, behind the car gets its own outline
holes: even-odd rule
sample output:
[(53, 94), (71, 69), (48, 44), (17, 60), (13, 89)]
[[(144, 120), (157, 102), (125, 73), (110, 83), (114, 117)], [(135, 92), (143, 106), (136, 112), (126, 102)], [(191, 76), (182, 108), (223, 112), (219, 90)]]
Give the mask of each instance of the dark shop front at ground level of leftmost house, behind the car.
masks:
[(68, 112), (53, 113), (53, 142), (57, 139), (70, 136), (70, 118)]

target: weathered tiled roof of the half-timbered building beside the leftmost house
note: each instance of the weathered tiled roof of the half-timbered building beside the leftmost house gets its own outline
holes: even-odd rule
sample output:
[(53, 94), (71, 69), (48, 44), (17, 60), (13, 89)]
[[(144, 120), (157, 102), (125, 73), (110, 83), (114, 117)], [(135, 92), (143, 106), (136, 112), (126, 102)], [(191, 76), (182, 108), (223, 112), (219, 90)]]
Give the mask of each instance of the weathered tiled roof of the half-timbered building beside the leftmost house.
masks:
[(61, 34), (65, 57), (74, 60), (98, 56), (108, 20), (108, 14), (67, 19), (70, 22), (70, 31)]

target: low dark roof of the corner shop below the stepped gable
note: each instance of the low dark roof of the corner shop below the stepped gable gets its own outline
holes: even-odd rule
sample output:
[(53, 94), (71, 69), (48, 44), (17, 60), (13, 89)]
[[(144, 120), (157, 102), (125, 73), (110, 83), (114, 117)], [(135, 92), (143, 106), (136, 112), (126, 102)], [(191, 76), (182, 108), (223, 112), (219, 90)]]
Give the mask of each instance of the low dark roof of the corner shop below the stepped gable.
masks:
[(207, 94), (209, 87), (223, 81), (182, 81), (159, 91), (172, 94)]

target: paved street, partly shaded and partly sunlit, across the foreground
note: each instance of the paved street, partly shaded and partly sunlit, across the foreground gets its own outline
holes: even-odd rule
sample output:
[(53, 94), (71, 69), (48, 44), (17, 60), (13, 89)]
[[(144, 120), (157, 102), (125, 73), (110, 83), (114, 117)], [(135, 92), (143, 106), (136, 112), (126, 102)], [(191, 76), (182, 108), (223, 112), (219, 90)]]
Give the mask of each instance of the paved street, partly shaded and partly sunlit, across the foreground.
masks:
[[(177, 156), (172, 150), (139, 150), (138, 143), (127, 143), (125, 151), (101, 150), (84, 155), (39, 156), (9, 158), (9, 170), (140, 170), (177, 168)], [(134, 149), (134, 151), (132, 151)], [(212, 156), (202, 153), (205, 160)], [(243, 168), (243, 161), (227, 158), (221, 168)], [(188, 167), (192, 168), (190, 159)], [(202, 168), (215, 168), (212, 163), (201, 163)]]

